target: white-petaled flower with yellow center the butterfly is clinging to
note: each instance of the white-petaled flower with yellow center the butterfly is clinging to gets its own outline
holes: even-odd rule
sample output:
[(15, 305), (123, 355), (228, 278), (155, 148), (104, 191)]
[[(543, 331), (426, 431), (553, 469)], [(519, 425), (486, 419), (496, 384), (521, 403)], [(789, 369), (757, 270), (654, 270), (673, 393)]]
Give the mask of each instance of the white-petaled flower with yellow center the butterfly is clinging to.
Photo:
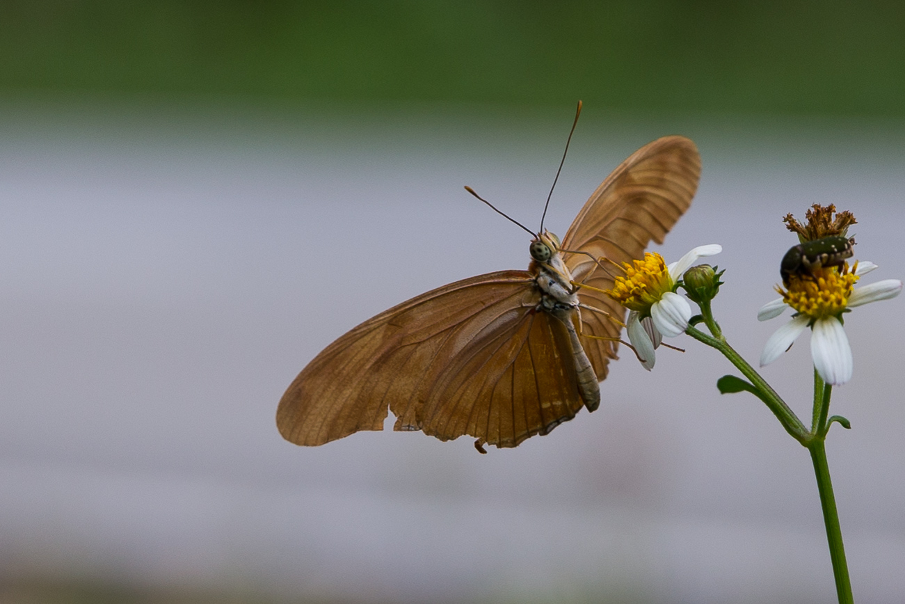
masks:
[(616, 277), (607, 294), (629, 309), (626, 331), (628, 340), (642, 360), (644, 369), (653, 369), (654, 349), (662, 336), (673, 338), (684, 333), (691, 319), (691, 305), (674, 292), (685, 271), (698, 258), (722, 251), (718, 244), (700, 245), (667, 266), (660, 254), (648, 252), (643, 260), (625, 263), (624, 277)]

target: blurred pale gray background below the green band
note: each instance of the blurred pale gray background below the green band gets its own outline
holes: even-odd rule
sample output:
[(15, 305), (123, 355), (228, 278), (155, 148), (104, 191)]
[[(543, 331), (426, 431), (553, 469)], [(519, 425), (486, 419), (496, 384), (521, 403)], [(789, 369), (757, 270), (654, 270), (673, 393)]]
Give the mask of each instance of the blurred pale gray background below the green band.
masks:
[[(527, 235), (462, 185), (535, 225), (571, 110), (6, 107), (6, 581), (305, 601), (831, 599), (806, 451), (757, 399), (719, 396), (728, 362), (688, 338), (650, 374), (624, 354), (599, 411), (513, 450), (393, 432), (299, 448), (277, 433), (283, 389), (344, 331), (527, 266)], [(601, 113), (586, 107), (549, 227), (564, 233), (643, 142), (692, 136), (700, 193), (661, 252), (724, 245), (716, 311), (749, 360), (785, 320), (755, 316), (795, 243), (786, 212), (851, 208), (857, 257), (881, 265), (866, 280), (901, 276), (899, 135)], [(846, 321), (855, 374), (833, 408), (853, 430), (828, 443), (865, 601), (905, 587), (899, 304)], [(764, 373), (806, 420), (807, 336)]]

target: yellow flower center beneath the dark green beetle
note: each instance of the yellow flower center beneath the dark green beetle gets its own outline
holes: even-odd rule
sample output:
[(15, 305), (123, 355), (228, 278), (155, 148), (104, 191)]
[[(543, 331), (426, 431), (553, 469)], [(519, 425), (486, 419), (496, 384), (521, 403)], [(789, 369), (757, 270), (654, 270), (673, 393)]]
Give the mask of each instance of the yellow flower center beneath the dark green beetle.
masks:
[[(855, 263), (855, 268), (858, 264)], [(814, 269), (813, 276), (792, 274), (788, 279), (788, 291), (776, 285), (776, 292), (783, 301), (813, 319), (835, 317), (845, 310), (858, 277), (848, 263), (840, 272), (835, 266)]]

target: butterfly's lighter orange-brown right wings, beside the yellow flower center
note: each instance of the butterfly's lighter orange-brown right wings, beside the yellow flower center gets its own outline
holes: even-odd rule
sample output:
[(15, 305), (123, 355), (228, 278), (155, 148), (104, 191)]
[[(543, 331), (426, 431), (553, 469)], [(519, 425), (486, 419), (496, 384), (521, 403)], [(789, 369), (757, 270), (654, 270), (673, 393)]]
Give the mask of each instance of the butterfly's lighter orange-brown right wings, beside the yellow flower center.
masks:
[[(606, 257), (616, 263), (643, 257), (691, 206), (698, 188), (700, 156), (691, 140), (679, 136), (654, 140), (635, 151), (597, 187), (563, 238), (563, 249)], [(567, 254), (565, 262), (576, 282), (612, 289), (614, 271), (595, 269), (586, 254)], [(609, 296), (588, 289), (581, 302), (624, 321), (624, 309)], [(617, 338), (621, 328), (598, 312), (581, 312), (582, 331)], [(582, 344), (597, 379), (606, 377), (606, 363), (615, 359), (616, 342), (583, 338)]]

